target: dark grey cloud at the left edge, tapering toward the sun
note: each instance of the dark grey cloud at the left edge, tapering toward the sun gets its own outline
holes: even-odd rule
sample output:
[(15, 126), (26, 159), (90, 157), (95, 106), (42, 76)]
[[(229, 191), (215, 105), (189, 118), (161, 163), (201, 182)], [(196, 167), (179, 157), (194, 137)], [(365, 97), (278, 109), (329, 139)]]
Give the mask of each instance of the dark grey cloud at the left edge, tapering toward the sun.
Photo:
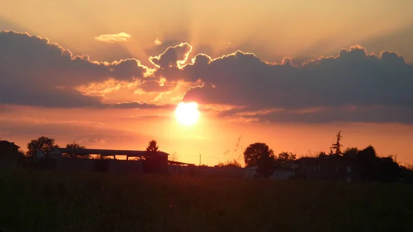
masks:
[(0, 104), (47, 107), (100, 105), (76, 86), (115, 78), (134, 81), (147, 68), (135, 59), (99, 63), (74, 56), (56, 43), (18, 32), (0, 32)]

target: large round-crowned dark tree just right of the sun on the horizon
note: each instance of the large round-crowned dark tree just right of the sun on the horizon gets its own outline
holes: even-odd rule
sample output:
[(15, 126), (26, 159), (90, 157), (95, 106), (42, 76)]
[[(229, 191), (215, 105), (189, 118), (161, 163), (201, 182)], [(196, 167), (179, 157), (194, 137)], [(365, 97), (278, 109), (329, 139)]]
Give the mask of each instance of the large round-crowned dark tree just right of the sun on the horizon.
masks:
[(264, 176), (271, 176), (275, 161), (274, 151), (266, 143), (253, 143), (244, 151), (246, 167), (257, 166), (257, 172)]

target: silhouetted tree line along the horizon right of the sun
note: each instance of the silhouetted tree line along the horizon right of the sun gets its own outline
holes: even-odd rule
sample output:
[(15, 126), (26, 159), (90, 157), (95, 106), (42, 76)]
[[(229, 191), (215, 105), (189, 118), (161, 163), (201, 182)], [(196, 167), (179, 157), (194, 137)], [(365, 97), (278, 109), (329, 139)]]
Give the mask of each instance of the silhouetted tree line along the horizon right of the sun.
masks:
[[(307, 158), (313, 158), (320, 162), (323, 160), (337, 160), (338, 158), (351, 163), (355, 167), (354, 171), (359, 173), (360, 180), (363, 182), (393, 181), (406, 175), (413, 179), (412, 165), (403, 167), (393, 159), (393, 156), (379, 157), (372, 145), (368, 145), (364, 149), (348, 147), (341, 151), (341, 147), (343, 147), (341, 138), (341, 131), (339, 131), (328, 154), (321, 151), (319, 154), (307, 156)], [(273, 174), (275, 168), (297, 160), (297, 155), (286, 151), (275, 155), (273, 149), (270, 149), (266, 143), (253, 143), (244, 149), (243, 158), (245, 167), (257, 167), (257, 173), (260, 176), (268, 177)], [(242, 167), (242, 165), (239, 161), (233, 159), (220, 162), (218, 167)]]

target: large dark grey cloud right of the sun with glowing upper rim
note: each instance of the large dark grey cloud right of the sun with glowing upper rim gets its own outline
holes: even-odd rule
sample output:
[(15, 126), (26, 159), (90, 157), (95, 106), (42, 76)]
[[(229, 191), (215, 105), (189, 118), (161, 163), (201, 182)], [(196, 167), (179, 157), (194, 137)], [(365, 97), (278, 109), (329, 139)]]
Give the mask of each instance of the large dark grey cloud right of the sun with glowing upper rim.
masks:
[[(200, 78), (204, 85), (189, 89), (184, 101), (236, 105), (251, 110), (342, 105), (366, 109), (377, 105), (407, 107), (408, 110), (394, 108), (402, 113), (400, 110), (410, 112), (413, 107), (413, 67), (394, 52), (374, 56), (367, 54), (364, 48), (354, 46), (350, 50), (341, 50), (338, 56), (321, 57), (301, 66), (292, 65), (289, 59), (284, 59), (283, 63), (269, 64), (253, 54), (236, 52), (209, 63), (204, 59), (199, 65), (196, 62), (187, 65), (182, 70), (187, 75), (182, 76), (189, 80)], [(398, 113), (390, 117), (383, 114), (385, 111), (375, 112), (382, 115), (383, 120), (399, 121)], [(357, 117), (355, 113), (351, 115)], [(364, 120), (368, 120), (368, 116), (363, 115)], [(348, 115), (318, 116), (320, 121), (332, 118), (355, 120)], [(370, 118), (376, 117), (379, 116)], [(399, 117), (400, 121), (405, 121), (403, 116)], [(273, 115), (273, 118), (279, 118), (279, 115)], [(305, 121), (305, 118), (301, 115), (296, 120)]]

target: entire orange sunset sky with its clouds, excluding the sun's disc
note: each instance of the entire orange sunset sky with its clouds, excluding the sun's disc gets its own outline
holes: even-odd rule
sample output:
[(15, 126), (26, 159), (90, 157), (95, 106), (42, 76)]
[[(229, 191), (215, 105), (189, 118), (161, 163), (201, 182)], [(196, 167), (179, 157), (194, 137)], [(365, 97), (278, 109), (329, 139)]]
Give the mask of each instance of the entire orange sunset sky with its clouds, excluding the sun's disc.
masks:
[[(24, 7), (22, 7), (24, 6)], [(51, 1), (0, 8), (0, 137), (216, 165), (373, 145), (413, 162), (413, 1)], [(200, 118), (174, 111), (195, 101)], [(238, 138), (240, 138), (238, 140)], [(238, 145), (237, 145), (238, 144)], [(238, 147), (238, 149), (236, 149)]]

